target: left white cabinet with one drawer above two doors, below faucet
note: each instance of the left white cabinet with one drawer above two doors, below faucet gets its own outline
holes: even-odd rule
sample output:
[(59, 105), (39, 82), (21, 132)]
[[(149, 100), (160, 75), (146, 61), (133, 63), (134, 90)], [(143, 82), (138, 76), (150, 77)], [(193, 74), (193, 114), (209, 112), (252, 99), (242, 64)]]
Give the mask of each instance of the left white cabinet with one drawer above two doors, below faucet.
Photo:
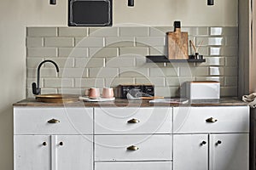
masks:
[(15, 170), (92, 170), (91, 117), (92, 108), (15, 108)]

